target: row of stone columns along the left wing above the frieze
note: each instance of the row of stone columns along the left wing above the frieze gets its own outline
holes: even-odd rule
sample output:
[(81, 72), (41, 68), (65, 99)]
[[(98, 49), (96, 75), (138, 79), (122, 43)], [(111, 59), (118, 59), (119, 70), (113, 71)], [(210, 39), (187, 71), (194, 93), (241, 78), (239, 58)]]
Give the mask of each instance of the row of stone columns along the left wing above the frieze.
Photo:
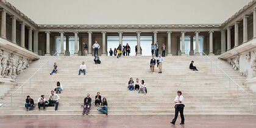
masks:
[[(1, 38), (6, 39), (6, 10), (1, 10)], [(12, 43), (16, 44), (16, 17), (12, 18)], [(25, 48), (25, 23), (21, 22), (21, 47)], [(34, 52), (38, 54), (38, 31), (29, 27), (29, 51), (32, 51), (32, 31), (34, 31)]]

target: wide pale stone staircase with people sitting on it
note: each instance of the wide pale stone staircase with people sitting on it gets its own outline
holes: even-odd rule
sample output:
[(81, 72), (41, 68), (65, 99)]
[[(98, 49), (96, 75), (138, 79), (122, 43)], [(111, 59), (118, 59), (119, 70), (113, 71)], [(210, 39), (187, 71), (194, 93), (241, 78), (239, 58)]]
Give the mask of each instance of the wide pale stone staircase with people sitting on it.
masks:
[[(5, 104), (4, 107), (0, 107), (0, 117), (83, 117), (81, 105), (84, 104), (86, 94), (90, 93), (94, 101), (98, 91), (101, 92), (102, 98), (107, 99), (107, 116), (170, 116), (174, 115), (174, 98), (177, 90), (182, 91), (185, 98), (185, 116), (256, 115), (256, 98), (253, 96), (249, 98), (247, 93), (239, 88), (237, 90), (236, 85), (232, 82), (230, 84), (229, 79), (205, 56), (165, 57), (162, 74), (158, 74), (158, 68), (155, 68), (155, 73), (149, 70), (151, 57), (122, 56), (116, 59), (116, 57), (102, 56), (100, 58), (102, 63), (95, 65), (93, 57), (89, 56), (62, 56), (54, 59), (41, 57), (17, 77), (18, 85), (7, 94), (15, 92), (43, 63), (46, 63), (44, 68), (24, 85), (22, 91), (19, 90), (12, 97), (0, 100), (0, 103)], [(238, 71), (234, 71), (227, 62), (219, 60), (218, 56), (210, 58), (245, 91), (252, 93), (243, 85), (245, 78), (241, 77)], [(48, 59), (50, 61), (47, 63)], [(191, 71), (188, 68), (191, 60), (194, 60), (194, 65), (199, 71)], [(82, 61), (87, 65), (86, 75), (78, 76)], [(53, 62), (57, 62), (59, 71), (50, 76)], [(130, 77), (133, 80), (143, 79), (148, 93), (138, 94), (138, 91), (127, 90)], [(57, 81), (60, 81), (64, 88), (59, 94), (58, 110), (54, 111), (54, 107), (46, 107), (46, 111), (38, 111), (37, 99), (41, 94), (48, 99)], [(29, 112), (24, 108), (27, 95), (30, 95), (36, 103), (34, 110)], [(106, 116), (98, 112), (97, 108), (99, 107), (94, 107), (92, 102), (88, 117)]]

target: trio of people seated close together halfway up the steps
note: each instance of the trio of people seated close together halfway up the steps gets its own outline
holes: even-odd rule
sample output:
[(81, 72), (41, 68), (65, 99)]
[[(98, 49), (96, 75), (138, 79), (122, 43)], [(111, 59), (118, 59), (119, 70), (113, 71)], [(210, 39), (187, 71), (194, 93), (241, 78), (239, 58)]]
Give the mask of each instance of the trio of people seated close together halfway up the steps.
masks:
[[(135, 88), (134, 85), (135, 84)], [(138, 93), (140, 93), (140, 91), (144, 91), (144, 94), (147, 93), (147, 88), (146, 88), (146, 84), (144, 82), (144, 80), (141, 80), (141, 84), (139, 83), (138, 78), (136, 79), (136, 82), (134, 83), (132, 78), (130, 78), (129, 82), (128, 82), (128, 87), (127, 87), (130, 91), (132, 90), (137, 90), (138, 89)]]

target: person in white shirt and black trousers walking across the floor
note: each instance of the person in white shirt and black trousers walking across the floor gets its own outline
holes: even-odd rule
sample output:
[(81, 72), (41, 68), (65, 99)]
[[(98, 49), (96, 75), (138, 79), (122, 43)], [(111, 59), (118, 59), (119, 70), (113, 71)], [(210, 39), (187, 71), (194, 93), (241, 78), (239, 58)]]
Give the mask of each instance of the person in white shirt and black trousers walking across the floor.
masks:
[(184, 124), (185, 119), (184, 119), (184, 115), (183, 115), (183, 110), (184, 110), (185, 105), (183, 104), (184, 98), (181, 94), (182, 94), (181, 91), (177, 91), (177, 96), (174, 99), (174, 102), (175, 102), (175, 116), (174, 116), (174, 119), (172, 119), (171, 124), (175, 124), (176, 119), (179, 115), (179, 112), (180, 112), (180, 118), (181, 118), (181, 123), (180, 124)]

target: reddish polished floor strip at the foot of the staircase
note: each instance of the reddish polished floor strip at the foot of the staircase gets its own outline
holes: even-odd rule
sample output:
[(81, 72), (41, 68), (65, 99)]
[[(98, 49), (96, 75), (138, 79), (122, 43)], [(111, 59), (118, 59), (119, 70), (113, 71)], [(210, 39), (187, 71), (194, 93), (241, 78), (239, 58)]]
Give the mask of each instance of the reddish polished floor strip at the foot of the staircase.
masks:
[(0, 127), (256, 127), (256, 118), (185, 118), (185, 124), (172, 118), (1, 118)]

